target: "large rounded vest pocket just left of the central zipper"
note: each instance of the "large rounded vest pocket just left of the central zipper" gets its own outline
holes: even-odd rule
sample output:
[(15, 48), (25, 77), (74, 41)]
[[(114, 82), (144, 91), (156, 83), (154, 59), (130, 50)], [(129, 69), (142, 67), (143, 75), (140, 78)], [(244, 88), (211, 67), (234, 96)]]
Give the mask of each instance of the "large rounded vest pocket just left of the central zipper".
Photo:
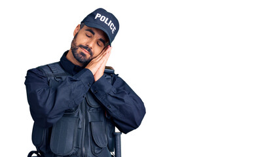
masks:
[(52, 127), (50, 148), (54, 154), (67, 156), (75, 152), (77, 117), (63, 116)]

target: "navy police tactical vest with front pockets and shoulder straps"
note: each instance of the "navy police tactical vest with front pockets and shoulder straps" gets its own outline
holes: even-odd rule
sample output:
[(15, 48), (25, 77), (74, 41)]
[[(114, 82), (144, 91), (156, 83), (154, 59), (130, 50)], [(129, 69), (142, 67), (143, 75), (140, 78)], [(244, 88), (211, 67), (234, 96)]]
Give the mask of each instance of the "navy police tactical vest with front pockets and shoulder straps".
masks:
[[(56, 88), (67, 72), (59, 62), (39, 67), (48, 78), (50, 88)], [(105, 68), (104, 75), (111, 84), (114, 70)], [(65, 111), (64, 116), (50, 128), (34, 123), (33, 145), (42, 156), (111, 156), (115, 147), (115, 126), (107, 118), (100, 101), (88, 90), (82, 102)]]

